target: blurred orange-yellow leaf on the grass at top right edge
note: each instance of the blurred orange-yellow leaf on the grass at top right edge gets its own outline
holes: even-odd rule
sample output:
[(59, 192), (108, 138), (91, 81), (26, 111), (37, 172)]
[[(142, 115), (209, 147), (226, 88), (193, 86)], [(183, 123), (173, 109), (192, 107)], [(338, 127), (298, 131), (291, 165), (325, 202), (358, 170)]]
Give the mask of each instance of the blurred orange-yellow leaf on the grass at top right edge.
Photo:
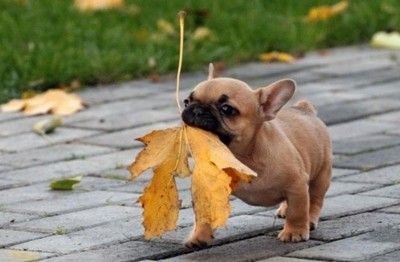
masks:
[(348, 7), (349, 3), (347, 1), (340, 1), (332, 6), (323, 5), (313, 7), (308, 11), (308, 15), (305, 19), (308, 22), (328, 20), (333, 16), (343, 13)]

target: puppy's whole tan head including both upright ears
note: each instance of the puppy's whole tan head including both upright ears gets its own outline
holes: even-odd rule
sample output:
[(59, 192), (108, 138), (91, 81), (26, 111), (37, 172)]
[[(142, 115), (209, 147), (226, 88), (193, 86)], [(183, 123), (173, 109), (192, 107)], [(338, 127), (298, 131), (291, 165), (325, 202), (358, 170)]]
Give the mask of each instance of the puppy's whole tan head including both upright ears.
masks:
[(208, 80), (198, 84), (184, 100), (182, 120), (218, 135), (227, 145), (248, 143), (264, 121), (275, 118), (294, 90), (292, 80), (252, 90), (237, 79), (214, 78), (210, 65)]

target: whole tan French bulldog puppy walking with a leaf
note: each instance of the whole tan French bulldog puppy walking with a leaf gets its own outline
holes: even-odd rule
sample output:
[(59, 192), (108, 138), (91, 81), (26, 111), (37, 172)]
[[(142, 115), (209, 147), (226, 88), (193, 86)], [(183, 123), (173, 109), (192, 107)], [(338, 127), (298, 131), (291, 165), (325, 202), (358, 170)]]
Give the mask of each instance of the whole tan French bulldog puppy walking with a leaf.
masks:
[[(280, 203), (276, 213), (286, 221), (279, 240), (308, 240), (330, 184), (327, 127), (308, 101), (282, 109), (295, 91), (293, 80), (252, 90), (240, 80), (213, 75), (210, 64), (208, 80), (184, 100), (182, 120), (218, 135), (236, 158), (257, 172), (252, 183), (241, 183), (233, 194), (250, 205)], [(196, 224), (185, 244), (206, 246), (212, 238), (210, 225)]]

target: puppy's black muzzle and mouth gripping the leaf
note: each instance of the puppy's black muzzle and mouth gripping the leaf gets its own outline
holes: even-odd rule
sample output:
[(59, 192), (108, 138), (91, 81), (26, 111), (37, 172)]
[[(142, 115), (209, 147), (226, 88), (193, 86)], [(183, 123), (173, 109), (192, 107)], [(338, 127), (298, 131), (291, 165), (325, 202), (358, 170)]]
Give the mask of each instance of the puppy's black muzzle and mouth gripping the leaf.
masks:
[(234, 135), (223, 128), (220, 118), (215, 108), (200, 103), (190, 104), (182, 112), (182, 120), (185, 124), (212, 132), (222, 143), (229, 145)]

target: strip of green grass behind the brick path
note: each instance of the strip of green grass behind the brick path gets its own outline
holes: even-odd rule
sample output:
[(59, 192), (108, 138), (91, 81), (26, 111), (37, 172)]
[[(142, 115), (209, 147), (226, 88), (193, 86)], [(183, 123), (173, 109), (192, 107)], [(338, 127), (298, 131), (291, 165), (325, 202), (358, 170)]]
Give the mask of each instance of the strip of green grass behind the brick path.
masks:
[[(304, 22), (310, 7), (337, 1), (127, 1), (121, 10), (81, 13), (73, 0), (0, 1), (0, 102), (27, 90), (79, 80), (84, 85), (166, 73), (177, 66), (178, 34), (157, 34), (157, 21), (177, 28), (186, 9), (184, 70), (210, 61), (233, 64), (265, 51), (303, 52), (366, 42), (400, 29), (400, 1), (351, 0), (342, 15)], [(194, 41), (198, 26), (214, 32)], [(155, 65), (149, 63), (155, 61)]]

